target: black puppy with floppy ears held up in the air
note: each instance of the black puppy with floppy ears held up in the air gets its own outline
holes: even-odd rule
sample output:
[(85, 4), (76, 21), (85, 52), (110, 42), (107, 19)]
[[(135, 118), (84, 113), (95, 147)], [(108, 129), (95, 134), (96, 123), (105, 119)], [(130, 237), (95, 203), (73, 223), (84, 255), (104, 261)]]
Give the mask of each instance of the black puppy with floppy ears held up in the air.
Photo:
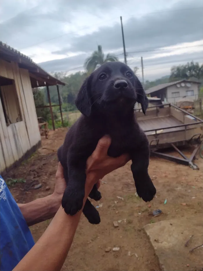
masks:
[[(64, 168), (67, 187), (62, 198), (65, 212), (74, 215), (81, 210), (85, 195), (86, 161), (101, 137), (108, 134), (112, 143), (108, 155), (128, 153), (137, 194), (151, 201), (156, 189), (148, 175), (149, 143), (134, 114), (136, 101), (145, 114), (148, 99), (142, 84), (124, 63), (108, 62), (84, 81), (76, 98), (81, 117), (68, 130), (58, 158)], [(96, 185), (90, 198), (100, 200)], [(83, 213), (92, 224), (98, 224), (98, 211), (87, 199)]]

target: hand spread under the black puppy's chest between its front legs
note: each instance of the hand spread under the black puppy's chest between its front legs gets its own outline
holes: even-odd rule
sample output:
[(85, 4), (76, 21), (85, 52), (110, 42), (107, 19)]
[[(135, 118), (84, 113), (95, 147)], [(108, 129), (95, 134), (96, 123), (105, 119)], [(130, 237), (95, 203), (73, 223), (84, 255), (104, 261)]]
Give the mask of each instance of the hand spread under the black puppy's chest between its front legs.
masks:
[(99, 139), (97, 147), (86, 163), (86, 182), (90, 181), (90, 183), (95, 184), (105, 175), (124, 166), (130, 160), (129, 155), (127, 154), (123, 154), (116, 158), (108, 156), (107, 152), (110, 144), (111, 138), (108, 136)]

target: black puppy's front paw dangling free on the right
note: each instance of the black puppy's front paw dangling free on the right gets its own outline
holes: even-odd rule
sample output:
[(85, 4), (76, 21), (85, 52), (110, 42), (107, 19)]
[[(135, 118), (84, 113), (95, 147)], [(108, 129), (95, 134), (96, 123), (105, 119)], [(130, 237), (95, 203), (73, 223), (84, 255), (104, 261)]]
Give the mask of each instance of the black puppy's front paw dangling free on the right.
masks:
[(145, 202), (153, 200), (155, 194), (156, 194), (156, 188), (153, 185), (153, 182), (149, 178), (149, 180), (144, 181), (139, 184), (135, 184), (137, 195), (142, 198)]

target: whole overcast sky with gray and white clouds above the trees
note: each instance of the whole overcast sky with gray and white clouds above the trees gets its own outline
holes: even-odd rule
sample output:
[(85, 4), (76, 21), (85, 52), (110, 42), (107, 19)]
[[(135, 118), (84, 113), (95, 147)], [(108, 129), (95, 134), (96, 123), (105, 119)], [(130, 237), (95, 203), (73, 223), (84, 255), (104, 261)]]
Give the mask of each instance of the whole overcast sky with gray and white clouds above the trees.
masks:
[(144, 61), (145, 80), (171, 66), (203, 62), (202, 0), (1, 0), (0, 39), (48, 72), (83, 70), (101, 44), (123, 61), (120, 16), (128, 64)]

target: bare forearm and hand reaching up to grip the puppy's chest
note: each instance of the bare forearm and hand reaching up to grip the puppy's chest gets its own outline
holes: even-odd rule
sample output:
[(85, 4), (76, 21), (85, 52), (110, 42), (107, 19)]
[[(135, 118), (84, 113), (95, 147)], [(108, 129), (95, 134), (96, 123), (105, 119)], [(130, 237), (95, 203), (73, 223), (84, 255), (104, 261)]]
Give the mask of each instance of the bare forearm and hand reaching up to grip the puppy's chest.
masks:
[[(100, 139), (95, 151), (87, 161), (87, 178), (85, 184), (85, 203), (93, 185), (109, 172), (124, 166), (129, 160), (127, 155), (118, 158), (107, 156), (110, 139)], [(59, 164), (56, 178), (63, 178), (62, 166)], [(73, 242), (75, 231), (81, 216), (81, 210), (75, 215), (67, 215), (59, 208), (50, 225), (37, 243), (18, 263), (13, 271), (57, 271), (60, 270)]]

